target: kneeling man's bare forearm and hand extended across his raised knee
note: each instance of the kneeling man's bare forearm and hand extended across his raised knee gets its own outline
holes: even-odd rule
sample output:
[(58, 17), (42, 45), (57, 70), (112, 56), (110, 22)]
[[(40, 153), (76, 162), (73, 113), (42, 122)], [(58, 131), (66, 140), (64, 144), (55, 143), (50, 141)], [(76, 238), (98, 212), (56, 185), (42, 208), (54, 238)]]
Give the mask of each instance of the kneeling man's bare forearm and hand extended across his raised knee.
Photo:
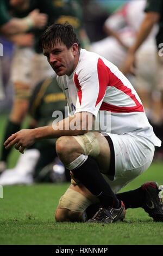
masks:
[[(44, 126), (35, 129), (23, 129), (12, 134), (5, 142), (6, 149), (15, 146), (16, 150), (23, 153), (26, 147), (34, 144), (35, 141), (41, 139), (59, 138), (64, 135), (82, 135), (89, 130), (87, 116), (92, 114), (87, 112), (79, 112), (72, 117), (67, 117), (53, 126)], [(93, 117), (92, 117), (93, 118)], [(76, 128), (72, 129), (72, 124), (76, 124)]]

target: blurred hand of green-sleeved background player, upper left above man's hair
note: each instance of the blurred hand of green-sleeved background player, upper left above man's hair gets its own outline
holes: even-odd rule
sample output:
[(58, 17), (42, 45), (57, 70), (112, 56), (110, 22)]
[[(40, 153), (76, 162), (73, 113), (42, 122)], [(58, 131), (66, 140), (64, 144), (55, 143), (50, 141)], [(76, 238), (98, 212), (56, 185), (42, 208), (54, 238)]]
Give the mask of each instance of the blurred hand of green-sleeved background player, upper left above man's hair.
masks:
[(40, 11), (38, 9), (35, 9), (35, 10), (31, 11), (31, 13), (28, 16), (30, 17), (30, 19), (33, 20), (34, 26), (36, 28), (45, 27), (45, 25), (47, 23), (47, 18), (48, 18), (47, 14), (40, 13)]

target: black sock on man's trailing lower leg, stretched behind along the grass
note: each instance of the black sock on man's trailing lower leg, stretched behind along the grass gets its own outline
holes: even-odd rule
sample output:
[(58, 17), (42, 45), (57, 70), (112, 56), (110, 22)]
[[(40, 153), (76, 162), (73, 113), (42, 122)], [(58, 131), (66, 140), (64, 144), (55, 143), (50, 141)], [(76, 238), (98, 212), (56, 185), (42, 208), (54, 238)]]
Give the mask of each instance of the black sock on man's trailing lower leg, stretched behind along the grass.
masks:
[(124, 193), (116, 194), (119, 200), (122, 200), (126, 209), (138, 208), (143, 206), (145, 191), (140, 187)]

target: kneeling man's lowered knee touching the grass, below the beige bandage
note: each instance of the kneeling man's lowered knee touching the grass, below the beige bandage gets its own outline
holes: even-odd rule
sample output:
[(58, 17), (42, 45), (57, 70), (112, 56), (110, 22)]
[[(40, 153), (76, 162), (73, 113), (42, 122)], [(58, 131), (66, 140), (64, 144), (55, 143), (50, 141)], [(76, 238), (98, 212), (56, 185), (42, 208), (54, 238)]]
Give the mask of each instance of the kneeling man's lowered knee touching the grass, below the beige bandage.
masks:
[(73, 212), (66, 208), (58, 208), (55, 212), (56, 222), (82, 222), (82, 217), (82, 212)]

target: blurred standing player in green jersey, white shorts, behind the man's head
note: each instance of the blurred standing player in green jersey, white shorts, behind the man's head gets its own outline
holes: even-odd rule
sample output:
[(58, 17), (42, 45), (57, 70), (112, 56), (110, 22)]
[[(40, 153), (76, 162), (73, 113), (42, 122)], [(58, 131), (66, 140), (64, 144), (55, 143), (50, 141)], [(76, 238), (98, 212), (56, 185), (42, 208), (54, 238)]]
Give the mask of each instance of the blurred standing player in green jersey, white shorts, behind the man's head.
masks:
[[(89, 45), (89, 40), (82, 27), (82, 10), (78, 1), (29, 1), (29, 0), (15, 0), (8, 1), (9, 7), (12, 10), (14, 16), (24, 16), (31, 9), (39, 9), (41, 12), (45, 12), (48, 15), (48, 24), (55, 22), (70, 22), (76, 29), (79, 38), (83, 43), (83, 47)], [(24, 5), (20, 2), (26, 3)], [(8, 8), (9, 8), (8, 7)], [(9, 8), (9, 9), (10, 9)], [(44, 24), (45, 25), (45, 24)], [(15, 133), (20, 129), (21, 123), (27, 114), (28, 99), (31, 89), (37, 82), (47, 77), (51, 78), (54, 74), (51, 66), (46, 61), (45, 56), (42, 54), (42, 49), (39, 45), (39, 37), (45, 29), (37, 29), (32, 31), (34, 33), (34, 47), (20, 47), (16, 45), (14, 57), (11, 64), (11, 81), (15, 87), (15, 99), (12, 106), (11, 114), (5, 129), (5, 138), (9, 134)], [(9, 152), (2, 148), (2, 156), (0, 162), (0, 171), (6, 168)]]

